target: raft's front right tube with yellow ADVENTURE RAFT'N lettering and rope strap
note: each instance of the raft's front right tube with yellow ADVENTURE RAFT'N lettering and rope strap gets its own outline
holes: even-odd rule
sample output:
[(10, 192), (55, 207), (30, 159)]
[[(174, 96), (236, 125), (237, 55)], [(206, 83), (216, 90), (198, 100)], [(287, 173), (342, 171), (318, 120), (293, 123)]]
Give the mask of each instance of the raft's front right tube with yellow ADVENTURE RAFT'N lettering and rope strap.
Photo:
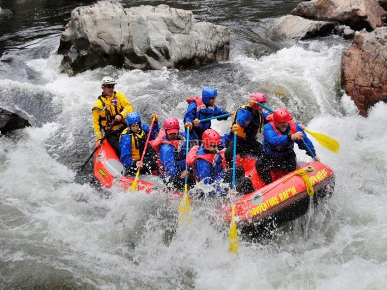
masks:
[[(326, 196), (331, 197), (334, 190), (335, 176), (327, 165), (312, 161), (305, 163), (296, 169), (308, 169), (306, 172), (313, 185), (314, 204), (318, 204)], [(258, 189), (250, 194), (239, 197), (235, 204), (237, 224), (245, 227), (257, 222), (263, 223), (265, 218), (275, 218), (277, 226), (297, 219), (304, 215), (309, 207), (309, 195), (305, 180), (300, 175), (291, 172), (282, 178)], [(231, 202), (223, 205), (221, 211), (225, 214), (225, 220), (231, 220)], [(289, 208), (289, 210), (287, 210)]]

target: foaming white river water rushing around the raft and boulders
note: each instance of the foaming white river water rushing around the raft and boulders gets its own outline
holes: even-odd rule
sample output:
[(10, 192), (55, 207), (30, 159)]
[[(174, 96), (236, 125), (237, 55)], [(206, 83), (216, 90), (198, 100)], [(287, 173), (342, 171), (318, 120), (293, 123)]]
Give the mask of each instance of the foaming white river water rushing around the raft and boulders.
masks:
[[(298, 0), (123, 0), (125, 7), (166, 3), (229, 26), (229, 60), (62, 75), (60, 33), (73, 8), (94, 2), (0, 0), (0, 105), (25, 110), (34, 123), (0, 136), (0, 289), (386, 289), (387, 104), (364, 118), (340, 90), (350, 41), (265, 39), (267, 22)], [(273, 239), (240, 237), (234, 255), (227, 231), (210, 222), (211, 207), (192, 207), (191, 224), (177, 227), (178, 200), (101, 189), (92, 162), (76, 168), (93, 149), (90, 111), (104, 75), (117, 78), (145, 122), (152, 113), (182, 120), (185, 98), (206, 85), (228, 110), (264, 91), (269, 107), (286, 106), (311, 131), (340, 142), (334, 154), (312, 138), (335, 171), (332, 198)], [(213, 127), (224, 133), (229, 125)]]

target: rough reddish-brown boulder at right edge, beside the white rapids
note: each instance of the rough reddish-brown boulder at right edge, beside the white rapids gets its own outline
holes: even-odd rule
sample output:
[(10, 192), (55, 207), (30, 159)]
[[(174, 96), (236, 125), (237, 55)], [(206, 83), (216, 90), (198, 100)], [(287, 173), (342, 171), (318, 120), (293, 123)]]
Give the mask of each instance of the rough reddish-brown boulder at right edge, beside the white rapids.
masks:
[(345, 49), (341, 84), (363, 116), (379, 101), (387, 102), (387, 27), (357, 33)]

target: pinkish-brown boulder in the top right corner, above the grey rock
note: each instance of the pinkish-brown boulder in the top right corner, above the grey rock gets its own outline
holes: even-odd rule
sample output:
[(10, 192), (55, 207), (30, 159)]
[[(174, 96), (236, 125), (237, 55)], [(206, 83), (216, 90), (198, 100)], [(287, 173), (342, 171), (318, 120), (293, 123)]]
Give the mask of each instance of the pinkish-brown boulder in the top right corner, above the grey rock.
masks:
[(319, 20), (335, 20), (354, 30), (372, 31), (383, 26), (387, 12), (377, 0), (311, 0), (297, 5), (293, 15)]

